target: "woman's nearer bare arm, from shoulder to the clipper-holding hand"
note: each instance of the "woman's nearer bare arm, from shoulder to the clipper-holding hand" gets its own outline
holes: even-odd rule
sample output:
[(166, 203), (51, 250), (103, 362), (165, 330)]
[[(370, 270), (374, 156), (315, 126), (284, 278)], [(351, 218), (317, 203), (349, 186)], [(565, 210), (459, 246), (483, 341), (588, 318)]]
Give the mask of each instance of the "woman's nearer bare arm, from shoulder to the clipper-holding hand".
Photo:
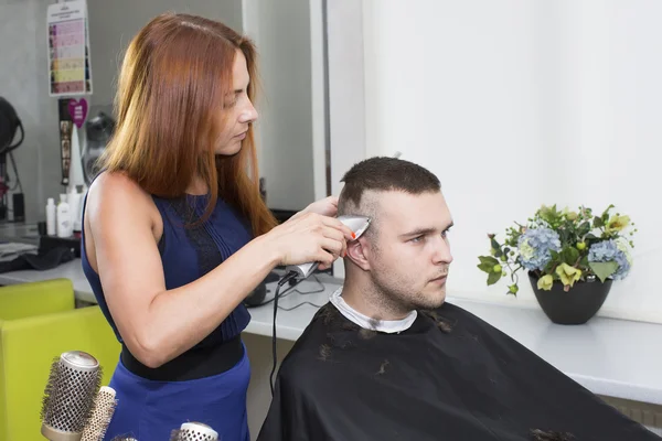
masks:
[[(149, 195), (130, 179), (104, 173), (89, 189), (85, 213), (86, 239), (92, 236), (94, 241), (108, 309), (131, 354), (152, 368), (209, 335), (275, 266), (299, 262), (297, 259), (303, 262), (310, 256), (330, 265), (344, 252), (344, 239), (351, 237), (351, 232), (337, 224), (317, 225), (337, 219), (309, 220), (317, 225), (309, 228), (301, 224), (306, 220), (302, 216), (299, 229), (296, 223), (277, 227), (278, 232), (252, 240), (204, 277), (167, 290), (152, 232), (153, 209)], [(287, 248), (292, 233), (308, 243), (308, 248)], [(320, 252), (320, 247), (332, 254)]]

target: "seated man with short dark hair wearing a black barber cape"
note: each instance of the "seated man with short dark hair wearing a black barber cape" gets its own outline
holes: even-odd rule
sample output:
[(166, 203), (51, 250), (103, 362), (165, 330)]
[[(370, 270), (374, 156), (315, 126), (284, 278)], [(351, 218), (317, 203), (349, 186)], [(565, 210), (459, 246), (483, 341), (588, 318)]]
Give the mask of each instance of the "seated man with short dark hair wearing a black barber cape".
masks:
[(434, 174), (373, 158), (343, 181), (339, 215), (372, 224), (284, 361), (259, 441), (659, 440), (445, 302), (452, 218)]

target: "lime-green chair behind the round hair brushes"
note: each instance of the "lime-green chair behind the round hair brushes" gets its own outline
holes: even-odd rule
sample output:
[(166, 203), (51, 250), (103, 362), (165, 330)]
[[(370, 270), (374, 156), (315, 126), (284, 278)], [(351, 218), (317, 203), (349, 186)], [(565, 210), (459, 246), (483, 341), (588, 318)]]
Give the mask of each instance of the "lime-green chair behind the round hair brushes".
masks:
[(0, 440), (43, 441), (41, 402), (53, 358), (84, 351), (107, 385), (120, 345), (99, 306), (75, 309), (68, 279), (0, 288)]

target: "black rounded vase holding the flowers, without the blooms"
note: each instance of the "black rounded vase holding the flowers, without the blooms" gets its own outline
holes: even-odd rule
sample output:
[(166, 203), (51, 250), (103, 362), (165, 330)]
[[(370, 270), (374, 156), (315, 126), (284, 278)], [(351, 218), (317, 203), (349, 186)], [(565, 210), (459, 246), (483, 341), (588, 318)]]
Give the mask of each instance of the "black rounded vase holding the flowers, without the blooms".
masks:
[(568, 292), (563, 290), (563, 283), (554, 281), (549, 291), (537, 288), (538, 278), (528, 272), (528, 281), (538, 304), (553, 323), (584, 324), (599, 310), (611, 289), (611, 279), (601, 282), (599, 279), (575, 282)]

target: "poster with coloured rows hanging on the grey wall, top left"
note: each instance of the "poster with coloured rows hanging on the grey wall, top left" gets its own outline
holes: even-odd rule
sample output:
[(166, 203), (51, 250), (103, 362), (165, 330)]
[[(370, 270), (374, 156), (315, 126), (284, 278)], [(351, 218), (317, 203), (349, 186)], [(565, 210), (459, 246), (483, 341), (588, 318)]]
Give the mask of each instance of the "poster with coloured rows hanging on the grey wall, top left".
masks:
[(49, 93), (52, 97), (92, 94), (89, 32), (85, 0), (50, 4)]

